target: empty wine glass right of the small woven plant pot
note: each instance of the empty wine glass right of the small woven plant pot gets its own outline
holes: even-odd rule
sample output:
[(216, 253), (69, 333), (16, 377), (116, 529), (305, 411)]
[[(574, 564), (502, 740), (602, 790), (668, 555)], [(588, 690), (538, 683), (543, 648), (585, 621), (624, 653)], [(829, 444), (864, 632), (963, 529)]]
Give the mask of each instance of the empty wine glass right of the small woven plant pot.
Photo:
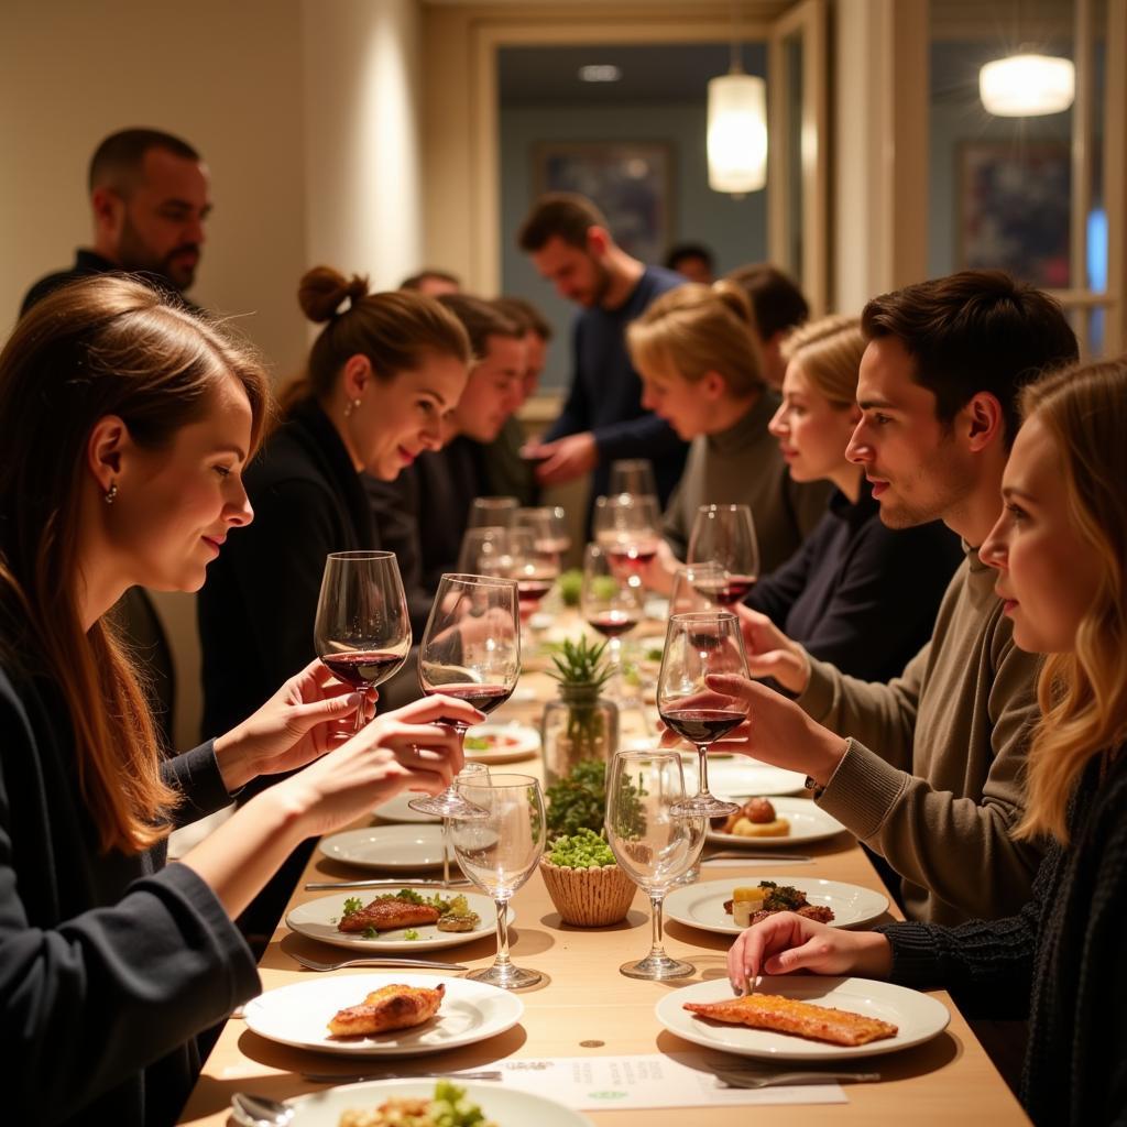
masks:
[(665, 894), (696, 863), (704, 845), (704, 819), (681, 811), (684, 797), (676, 752), (615, 752), (606, 778), (606, 840), (654, 909), (649, 955), (619, 967), (628, 978), (684, 978), (695, 970), (666, 955), (662, 942)]

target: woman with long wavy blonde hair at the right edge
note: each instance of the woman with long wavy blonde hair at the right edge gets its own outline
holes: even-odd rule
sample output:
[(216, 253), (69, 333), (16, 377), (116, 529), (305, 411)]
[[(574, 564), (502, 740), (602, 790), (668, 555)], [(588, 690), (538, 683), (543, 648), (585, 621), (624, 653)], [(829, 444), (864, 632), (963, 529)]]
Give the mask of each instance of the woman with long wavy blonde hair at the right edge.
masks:
[[(728, 953), (747, 977), (808, 970), (942, 986), (982, 1015), (1028, 1015), (1021, 1099), (1035, 1124), (1127, 1122), (1127, 358), (1026, 389), (1005, 509), (980, 549), (1013, 638), (1048, 654), (1021, 838), (1046, 837), (1029, 904), (958, 926), (848, 933), (789, 913)], [(973, 880), (974, 873), (968, 872)]]

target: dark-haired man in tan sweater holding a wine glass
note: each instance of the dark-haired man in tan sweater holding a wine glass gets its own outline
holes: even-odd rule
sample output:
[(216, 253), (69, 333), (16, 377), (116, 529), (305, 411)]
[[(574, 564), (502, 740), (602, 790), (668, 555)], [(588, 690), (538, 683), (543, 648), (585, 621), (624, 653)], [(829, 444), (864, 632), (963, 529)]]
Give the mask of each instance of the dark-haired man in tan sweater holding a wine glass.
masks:
[(774, 677), (798, 707), (763, 685), (725, 684), (751, 698), (747, 742), (735, 747), (807, 774), (818, 805), (899, 873), (909, 917), (1004, 916), (1027, 902), (1041, 854), (1010, 837), (1037, 658), (1014, 647), (977, 547), (1002, 511), (1018, 389), (1074, 361), (1076, 340), (1051, 299), (995, 272), (877, 298), (862, 329), (863, 416), (846, 454), (864, 467), (885, 524), (942, 520), (967, 558), (931, 641), (888, 684), (814, 660), (748, 615), (753, 676)]

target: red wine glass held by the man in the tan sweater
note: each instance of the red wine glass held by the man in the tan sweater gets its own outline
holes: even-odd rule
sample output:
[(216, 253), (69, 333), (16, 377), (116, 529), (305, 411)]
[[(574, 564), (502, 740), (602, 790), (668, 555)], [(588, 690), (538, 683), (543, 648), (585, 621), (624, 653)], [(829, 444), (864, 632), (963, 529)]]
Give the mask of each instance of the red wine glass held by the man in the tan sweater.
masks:
[(657, 675), (657, 711), (666, 727), (695, 745), (700, 756), (696, 795), (681, 804), (681, 813), (707, 818), (739, 809), (709, 792), (708, 749), (747, 717), (744, 701), (709, 687), (707, 678), (715, 673), (747, 676), (739, 619), (731, 611), (671, 615)]

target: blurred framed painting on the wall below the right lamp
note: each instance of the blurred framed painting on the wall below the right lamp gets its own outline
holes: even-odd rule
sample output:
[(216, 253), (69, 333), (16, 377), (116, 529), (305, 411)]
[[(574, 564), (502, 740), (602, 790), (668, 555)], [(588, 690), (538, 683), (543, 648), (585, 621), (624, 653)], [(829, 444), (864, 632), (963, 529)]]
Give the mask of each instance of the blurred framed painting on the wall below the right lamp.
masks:
[(959, 147), (956, 261), (1048, 290), (1070, 285), (1068, 142), (967, 141)]

